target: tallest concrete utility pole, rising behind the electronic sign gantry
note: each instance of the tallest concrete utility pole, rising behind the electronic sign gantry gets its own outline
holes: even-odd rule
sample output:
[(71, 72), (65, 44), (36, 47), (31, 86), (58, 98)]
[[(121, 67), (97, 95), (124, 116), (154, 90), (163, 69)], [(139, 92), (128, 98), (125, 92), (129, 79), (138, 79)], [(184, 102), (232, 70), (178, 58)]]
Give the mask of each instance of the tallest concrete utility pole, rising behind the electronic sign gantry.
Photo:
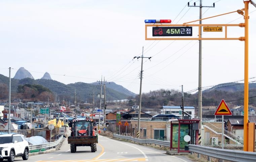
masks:
[[(194, 5), (190, 6), (188, 2), (188, 7), (199, 7), (199, 19), (202, 19), (202, 8), (203, 7), (215, 7), (215, 3), (213, 6), (202, 6), (202, 0), (200, 0), (200, 5), (196, 6), (195, 2)], [(202, 20), (199, 20), (199, 24), (202, 24)], [(202, 31), (202, 27), (200, 26), (200, 31)], [(200, 32), (200, 38), (202, 38), (202, 32)], [(202, 133), (202, 40), (199, 40), (199, 71), (198, 71), (198, 117), (199, 121), (199, 134)]]

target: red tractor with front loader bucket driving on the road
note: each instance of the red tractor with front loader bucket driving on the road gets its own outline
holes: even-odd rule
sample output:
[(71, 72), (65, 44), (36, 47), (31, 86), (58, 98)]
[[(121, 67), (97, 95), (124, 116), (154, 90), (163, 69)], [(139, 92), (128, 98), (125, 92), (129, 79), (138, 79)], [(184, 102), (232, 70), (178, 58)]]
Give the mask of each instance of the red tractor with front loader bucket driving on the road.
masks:
[(69, 121), (71, 135), (68, 137), (70, 152), (75, 153), (77, 146), (90, 146), (92, 152), (97, 151), (98, 135), (95, 135), (93, 129), (93, 120), (91, 119), (74, 119)]

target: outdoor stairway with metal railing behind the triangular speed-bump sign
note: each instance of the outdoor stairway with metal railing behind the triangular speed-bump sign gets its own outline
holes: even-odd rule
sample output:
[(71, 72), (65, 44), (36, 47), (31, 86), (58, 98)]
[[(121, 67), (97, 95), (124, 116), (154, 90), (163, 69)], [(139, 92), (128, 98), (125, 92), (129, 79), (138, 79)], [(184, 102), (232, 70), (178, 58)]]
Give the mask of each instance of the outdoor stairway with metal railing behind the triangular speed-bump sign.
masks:
[[(209, 119), (207, 120), (202, 120), (202, 123), (208, 123), (203, 124), (204, 127), (208, 128), (209, 130), (211, 130), (212, 132), (214, 132), (215, 134), (222, 134), (222, 128), (218, 128), (216, 127), (214, 124), (212, 124), (211, 122), (213, 122), (214, 119), (211, 119), (209, 121)], [(218, 119), (218, 122), (222, 122), (222, 119)], [(224, 134), (225, 137), (227, 137), (228, 139), (232, 140), (235, 144), (237, 145), (242, 145), (244, 143), (244, 140), (242, 138), (240, 138), (239, 136), (227, 131), (224, 129)]]

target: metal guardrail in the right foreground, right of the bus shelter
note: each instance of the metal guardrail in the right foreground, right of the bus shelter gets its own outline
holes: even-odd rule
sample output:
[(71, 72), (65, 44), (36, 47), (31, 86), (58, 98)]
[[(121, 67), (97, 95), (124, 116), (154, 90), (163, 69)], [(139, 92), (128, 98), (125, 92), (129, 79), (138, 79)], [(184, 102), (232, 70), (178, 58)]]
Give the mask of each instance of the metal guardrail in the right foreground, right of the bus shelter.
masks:
[(208, 156), (208, 161), (211, 161), (210, 157), (237, 162), (255, 162), (256, 159), (255, 152), (227, 150), (191, 144), (188, 145), (188, 150), (191, 154), (193, 152), (197, 153), (198, 157), (200, 157), (200, 154)]

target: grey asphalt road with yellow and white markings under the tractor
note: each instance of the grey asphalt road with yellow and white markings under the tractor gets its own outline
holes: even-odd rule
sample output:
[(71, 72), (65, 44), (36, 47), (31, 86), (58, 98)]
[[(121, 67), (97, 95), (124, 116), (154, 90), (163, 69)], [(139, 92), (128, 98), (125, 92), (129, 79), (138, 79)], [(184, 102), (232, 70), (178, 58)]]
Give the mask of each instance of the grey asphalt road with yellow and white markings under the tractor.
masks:
[[(22, 158), (15, 158), (15, 161)], [(99, 135), (97, 151), (92, 153), (90, 147), (77, 147), (76, 153), (70, 152), (67, 139), (63, 141), (60, 150), (50, 153), (32, 155), (26, 162), (112, 162), (112, 161), (162, 161), (162, 162), (192, 162), (186, 156), (170, 156), (166, 151), (114, 140)]]

